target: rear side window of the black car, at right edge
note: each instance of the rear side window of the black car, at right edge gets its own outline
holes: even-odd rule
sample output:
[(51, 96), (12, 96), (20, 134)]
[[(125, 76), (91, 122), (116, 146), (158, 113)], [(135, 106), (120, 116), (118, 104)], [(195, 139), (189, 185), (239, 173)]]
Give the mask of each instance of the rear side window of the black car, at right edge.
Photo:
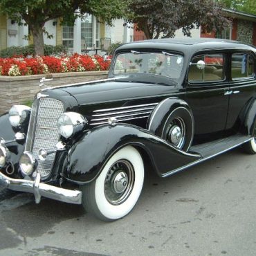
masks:
[(253, 77), (253, 56), (248, 53), (232, 54), (231, 77), (232, 80)]

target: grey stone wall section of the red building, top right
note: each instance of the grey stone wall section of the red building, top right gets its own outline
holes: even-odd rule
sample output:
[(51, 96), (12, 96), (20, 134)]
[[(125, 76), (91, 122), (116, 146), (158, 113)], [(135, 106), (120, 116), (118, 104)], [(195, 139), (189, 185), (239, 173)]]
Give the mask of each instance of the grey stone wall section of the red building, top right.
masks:
[(253, 22), (239, 20), (237, 23), (237, 40), (253, 44)]

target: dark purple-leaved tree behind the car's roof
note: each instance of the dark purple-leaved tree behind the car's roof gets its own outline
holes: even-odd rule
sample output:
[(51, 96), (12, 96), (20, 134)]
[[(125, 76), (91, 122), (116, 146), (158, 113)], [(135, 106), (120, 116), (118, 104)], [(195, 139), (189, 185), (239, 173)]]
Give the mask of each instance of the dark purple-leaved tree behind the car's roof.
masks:
[(174, 37), (182, 28), (190, 36), (192, 28), (223, 30), (231, 25), (221, 6), (213, 0), (128, 0), (127, 19), (136, 23), (147, 39)]

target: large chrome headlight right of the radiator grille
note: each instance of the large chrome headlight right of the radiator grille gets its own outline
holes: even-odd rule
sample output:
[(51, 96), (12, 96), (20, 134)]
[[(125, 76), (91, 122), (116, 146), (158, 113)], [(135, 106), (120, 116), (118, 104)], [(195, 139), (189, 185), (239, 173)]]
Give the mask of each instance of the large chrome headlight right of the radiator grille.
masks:
[(66, 112), (57, 120), (57, 128), (60, 134), (69, 138), (76, 134), (78, 131), (82, 131), (85, 125), (85, 119), (80, 113)]

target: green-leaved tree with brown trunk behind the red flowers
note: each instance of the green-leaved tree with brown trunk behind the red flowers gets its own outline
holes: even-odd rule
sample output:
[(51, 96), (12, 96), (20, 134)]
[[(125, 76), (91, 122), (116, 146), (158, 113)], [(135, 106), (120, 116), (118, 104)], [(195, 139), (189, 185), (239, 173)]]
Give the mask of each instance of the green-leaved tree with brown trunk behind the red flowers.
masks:
[[(80, 12), (76, 12), (76, 10)], [(75, 21), (75, 17), (89, 13), (111, 24), (112, 19), (122, 17), (122, 0), (0, 0), (0, 11), (19, 25), (24, 20), (29, 26), (35, 44), (35, 53), (44, 55), (44, 29), (46, 21), (63, 17)]]

